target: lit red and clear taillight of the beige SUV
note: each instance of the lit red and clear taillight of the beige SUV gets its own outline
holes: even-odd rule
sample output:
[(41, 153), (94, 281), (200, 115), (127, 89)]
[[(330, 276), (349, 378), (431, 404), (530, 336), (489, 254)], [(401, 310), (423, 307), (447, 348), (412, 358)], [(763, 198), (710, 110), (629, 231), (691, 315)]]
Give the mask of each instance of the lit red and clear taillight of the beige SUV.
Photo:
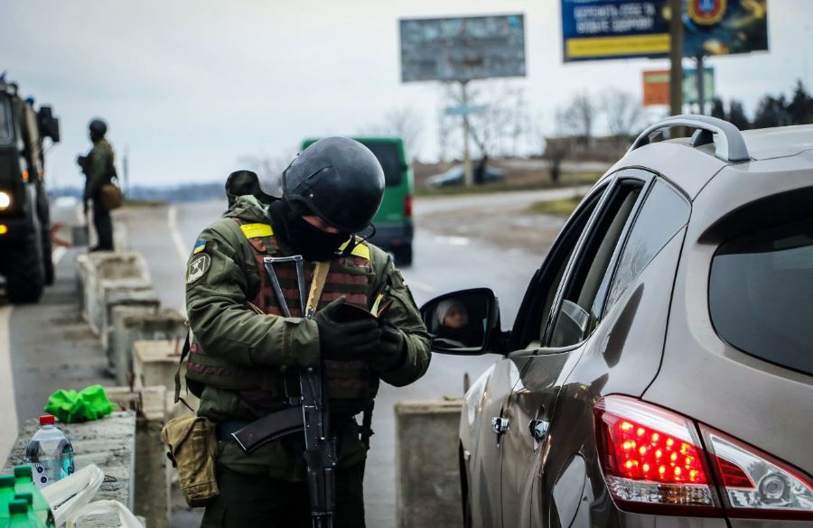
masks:
[(594, 413), (604, 479), (625, 510), (813, 519), (813, 479), (759, 449), (706, 425), (701, 443), (694, 421), (628, 396)]

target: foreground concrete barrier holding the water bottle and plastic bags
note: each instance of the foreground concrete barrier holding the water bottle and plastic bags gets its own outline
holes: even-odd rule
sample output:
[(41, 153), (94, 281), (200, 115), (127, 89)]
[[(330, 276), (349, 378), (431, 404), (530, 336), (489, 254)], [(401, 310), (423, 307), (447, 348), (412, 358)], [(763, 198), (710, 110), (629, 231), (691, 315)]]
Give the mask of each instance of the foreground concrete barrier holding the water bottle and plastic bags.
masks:
[[(135, 461), (135, 412), (114, 412), (96, 421), (83, 423), (57, 423), (73, 444), (74, 464), (77, 469), (96, 464), (105, 473), (105, 480), (94, 500), (112, 499), (134, 505), (133, 480)], [(14, 466), (25, 464), (25, 448), (33, 433), (40, 427), (37, 420), (23, 423), (14, 448), (5, 460), (3, 474), (9, 475)], [(82, 528), (110, 528), (118, 526), (117, 515), (89, 517)]]

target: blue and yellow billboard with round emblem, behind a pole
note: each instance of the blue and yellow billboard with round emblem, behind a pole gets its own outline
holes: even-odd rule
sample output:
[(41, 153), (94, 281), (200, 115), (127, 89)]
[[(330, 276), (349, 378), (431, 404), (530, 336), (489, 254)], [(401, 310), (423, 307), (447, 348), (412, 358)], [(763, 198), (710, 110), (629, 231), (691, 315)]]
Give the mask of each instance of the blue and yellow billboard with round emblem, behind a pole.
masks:
[[(768, 0), (684, 0), (683, 54), (768, 50)], [(668, 0), (561, 0), (565, 62), (664, 58)]]

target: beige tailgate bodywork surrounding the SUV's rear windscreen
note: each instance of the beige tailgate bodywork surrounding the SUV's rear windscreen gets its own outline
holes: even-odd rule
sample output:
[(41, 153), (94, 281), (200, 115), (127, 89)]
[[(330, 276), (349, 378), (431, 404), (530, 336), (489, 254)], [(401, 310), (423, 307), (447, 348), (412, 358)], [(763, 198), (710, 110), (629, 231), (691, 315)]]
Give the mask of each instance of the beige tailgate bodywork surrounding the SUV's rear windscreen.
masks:
[[(754, 199), (813, 186), (813, 152), (727, 168), (695, 201), (677, 274), (662, 375), (646, 400), (683, 412), (813, 474), (813, 376), (752, 357), (717, 336), (706, 277), (717, 242), (706, 228)], [(689, 314), (689, 317), (687, 317)], [(681, 390), (691, 380), (691, 390)], [(709, 404), (714, 403), (714, 404)]]

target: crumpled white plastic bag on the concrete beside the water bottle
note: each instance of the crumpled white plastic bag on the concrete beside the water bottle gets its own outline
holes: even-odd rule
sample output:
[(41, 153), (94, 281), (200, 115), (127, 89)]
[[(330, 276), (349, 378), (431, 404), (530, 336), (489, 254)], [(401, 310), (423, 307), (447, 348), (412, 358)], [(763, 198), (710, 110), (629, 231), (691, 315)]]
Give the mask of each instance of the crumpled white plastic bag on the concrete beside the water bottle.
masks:
[(54, 523), (74, 528), (80, 517), (87, 515), (118, 514), (121, 528), (144, 528), (125, 505), (117, 501), (90, 500), (96, 496), (105, 474), (95, 464), (79, 469), (70, 477), (62, 478), (42, 488), (42, 496), (51, 505)]

